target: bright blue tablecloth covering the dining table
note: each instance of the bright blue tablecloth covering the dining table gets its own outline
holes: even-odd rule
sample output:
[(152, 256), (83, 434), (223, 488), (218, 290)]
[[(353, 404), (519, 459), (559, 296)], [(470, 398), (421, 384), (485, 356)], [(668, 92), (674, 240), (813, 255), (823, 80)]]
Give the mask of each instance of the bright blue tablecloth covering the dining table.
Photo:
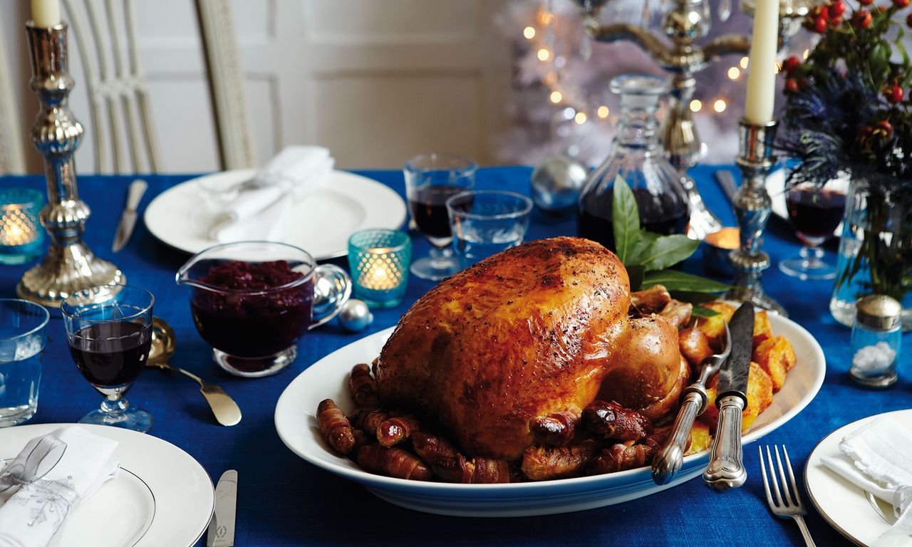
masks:
[[(728, 224), (733, 216), (716, 184), (716, 168), (693, 171), (700, 191)], [(404, 194), (399, 171), (371, 170), (360, 174), (388, 184)], [(528, 193), (531, 170), (524, 167), (482, 169), (480, 188)], [(152, 198), (191, 176), (150, 176), (143, 208)], [(130, 390), (130, 403), (147, 408), (155, 417), (150, 434), (170, 441), (199, 460), (214, 480), (223, 470), (240, 473), (236, 545), (326, 544), (506, 544), (506, 545), (781, 545), (802, 544), (797, 526), (772, 517), (764, 501), (755, 445), (745, 450), (751, 472), (740, 490), (715, 494), (701, 480), (603, 509), (565, 515), (513, 519), (457, 519), (400, 509), (380, 501), (358, 485), (318, 470), (285, 448), (275, 433), (273, 410), (287, 384), (308, 365), (362, 335), (395, 325), (432, 284), (409, 279), (403, 304), (375, 312), (373, 325), (359, 335), (347, 334), (337, 325), (312, 332), (298, 345), (295, 363), (284, 372), (262, 379), (242, 379), (224, 373), (212, 363), (210, 348), (197, 335), (191, 320), (186, 290), (174, 284), (174, 272), (187, 255), (155, 240), (140, 222), (127, 248), (109, 251), (129, 177), (84, 176), (79, 194), (92, 209), (86, 240), (101, 257), (117, 263), (130, 284), (156, 296), (155, 314), (166, 318), (177, 333), (179, 345), (172, 363), (222, 385), (244, 410), (244, 420), (233, 428), (219, 426), (196, 385), (183, 377), (148, 371)], [(0, 178), (0, 185), (43, 188), (37, 177)], [(141, 211), (140, 211), (141, 212)], [(527, 239), (575, 234), (572, 218), (555, 220), (534, 212)], [(798, 252), (799, 243), (788, 226), (773, 219), (764, 249), (773, 261)], [(427, 244), (415, 239), (415, 254), (427, 253)], [(834, 247), (827, 250), (834, 260)], [(0, 268), (0, 295), (13, 296), (25, 267)], [(700, 272), (700, 255), (686, 269)], [(814, 401), (796, 418), (763, 442), (785, 444), (796, 470), (818, 440), (859, 418), (888, 410), (912, 407), (912, 370), (900, 368), (901, 379), (889, 391), (866, 391), (846, 377), (849, 368), (849, 330), (835, 323), (828, 309), (830, 282), (801, 282), (773, 267), (764, 276), (770, 294), (782, 303), (799, 324), (824, 347), (826, 380)], [(44, 361), (39, 408), (32, 423), (74, 422), (97, 408), (98, 394), (79, 375), (67, 353), (62, 321), (54, 313)], [(912, 336), (906, 336), (904, 359), (912, 356)], [(803, 473), (801, 473), (803, 475)], [(806, 498), (805, 498), (806, 499)], [(808, 522), (818, 545), (848, 545), (815, 511)], [(179, 546), (168, 546), (179, 547)]]

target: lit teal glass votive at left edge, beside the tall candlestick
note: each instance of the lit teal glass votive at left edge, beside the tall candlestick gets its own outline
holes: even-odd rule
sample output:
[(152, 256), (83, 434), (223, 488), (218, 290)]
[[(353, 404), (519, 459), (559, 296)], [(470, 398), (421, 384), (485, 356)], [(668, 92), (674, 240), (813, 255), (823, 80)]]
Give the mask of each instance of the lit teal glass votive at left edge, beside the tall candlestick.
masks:
[(24, 264), (44, 249), (41, 207), (45, 194), (26, 188), (0, 190), (0, 263)]

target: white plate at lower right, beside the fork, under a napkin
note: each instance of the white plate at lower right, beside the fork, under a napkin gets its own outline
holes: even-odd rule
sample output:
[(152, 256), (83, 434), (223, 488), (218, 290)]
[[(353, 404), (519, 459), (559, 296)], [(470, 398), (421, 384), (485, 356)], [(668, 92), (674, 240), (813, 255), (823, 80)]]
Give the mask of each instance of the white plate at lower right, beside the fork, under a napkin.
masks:
[[(874, 496), (867, 496), (865, 490), (861, 490), (824, 466), (821, 459), (824, 456), (839, 456), (842, 453), (839, 450), (839, 441), (857, 428), (886, 414), (912, 425), (912, 409), (859, 419), (836, 429), (821, 440), (808, 457), (804, 469), (804, 486), (817, 511), (836, 531), (865, 547), (873, 545), (896, 521), (893, 517), (893, 506)], [(905, 542), (896, 545), (912, 547), (912, 539), (903, 540)]]

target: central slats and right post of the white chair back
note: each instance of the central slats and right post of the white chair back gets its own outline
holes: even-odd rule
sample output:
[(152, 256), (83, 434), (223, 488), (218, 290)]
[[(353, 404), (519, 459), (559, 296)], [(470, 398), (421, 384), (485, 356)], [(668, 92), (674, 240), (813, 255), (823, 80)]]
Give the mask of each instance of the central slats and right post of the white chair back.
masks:
[[(161, 152), (136, 43), (136, 0), (63, 1), (88, 88), (96, 170), (161, 171)], [(197, 0), (196, 11), (209, 73), (220, 167), (252, 167), (255, 152), (231, 6), (228, 0)]]

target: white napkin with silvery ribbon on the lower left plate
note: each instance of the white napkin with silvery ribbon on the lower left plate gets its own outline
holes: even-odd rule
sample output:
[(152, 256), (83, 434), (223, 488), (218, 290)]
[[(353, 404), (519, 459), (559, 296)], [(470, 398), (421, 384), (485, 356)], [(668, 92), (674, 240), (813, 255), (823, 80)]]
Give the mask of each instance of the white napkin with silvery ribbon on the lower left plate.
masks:
[(117, 475), (117, 445), (77, 426), (28, 441), (0, 469), (0, 547), (45, 547), (69, 511)]

